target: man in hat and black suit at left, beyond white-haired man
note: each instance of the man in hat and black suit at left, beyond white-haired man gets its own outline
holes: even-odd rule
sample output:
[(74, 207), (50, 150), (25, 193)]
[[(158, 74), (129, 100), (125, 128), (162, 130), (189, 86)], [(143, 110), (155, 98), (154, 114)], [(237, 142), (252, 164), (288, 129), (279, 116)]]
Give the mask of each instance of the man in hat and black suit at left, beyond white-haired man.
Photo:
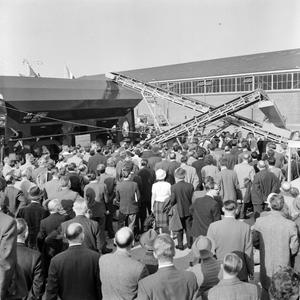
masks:
[(28, 225), (28, 247), (37, 250), (36, 238), (40, 231), (40, 223), (49, 216), (49, 211), (41, 205), (44, 192), (34, 186), (29, 190), (28, 199), (31, 203), (20, 208), (17, 218), (23, 218)]

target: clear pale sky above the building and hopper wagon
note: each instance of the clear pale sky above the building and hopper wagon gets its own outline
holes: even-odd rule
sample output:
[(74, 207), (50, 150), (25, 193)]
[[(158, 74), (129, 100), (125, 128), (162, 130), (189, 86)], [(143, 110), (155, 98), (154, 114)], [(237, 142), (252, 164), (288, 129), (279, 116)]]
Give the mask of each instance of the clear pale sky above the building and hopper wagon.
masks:
[(24, 58), (80, 77), (300, 48), (299, 28), (299, 0), (0, 0), (0, 75)]

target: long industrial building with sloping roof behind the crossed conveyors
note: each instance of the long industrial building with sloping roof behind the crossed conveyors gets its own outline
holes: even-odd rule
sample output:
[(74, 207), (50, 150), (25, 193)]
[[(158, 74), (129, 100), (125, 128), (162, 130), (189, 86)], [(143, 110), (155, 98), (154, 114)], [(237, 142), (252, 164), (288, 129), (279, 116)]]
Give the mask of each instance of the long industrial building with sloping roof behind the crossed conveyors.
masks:
[[(287, 127), (300, 129), (300, 49), (228, 57), (122, 72), (214, 106), (255, 89), (265, 90), (286, 118)], [(196, 115), (157, 99), (159, 110), (171, 123), (183, 122)], [(145, 113), (141, 103), (136, 113)], [(156, 108), (157, 110), (157, 108)], [(157, 110), (157, 111), (159, 111)], [(262, 122), (257, 105), (240, 112)]]

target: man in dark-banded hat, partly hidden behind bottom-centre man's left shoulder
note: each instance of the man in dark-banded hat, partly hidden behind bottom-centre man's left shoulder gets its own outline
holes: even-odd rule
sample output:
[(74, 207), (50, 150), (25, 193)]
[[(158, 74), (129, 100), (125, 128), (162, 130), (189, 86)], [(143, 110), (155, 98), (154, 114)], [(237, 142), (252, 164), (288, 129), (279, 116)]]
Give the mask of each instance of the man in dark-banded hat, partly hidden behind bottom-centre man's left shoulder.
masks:
[(157, 236), (154, 229), (149, 229), (140, 237), (140, 245), (146, 250), (146, 253), (139, 261), (147, 267), (149, 275), (154, 274), (158, 269), (157, 258), (153, 256), (154, 241)]

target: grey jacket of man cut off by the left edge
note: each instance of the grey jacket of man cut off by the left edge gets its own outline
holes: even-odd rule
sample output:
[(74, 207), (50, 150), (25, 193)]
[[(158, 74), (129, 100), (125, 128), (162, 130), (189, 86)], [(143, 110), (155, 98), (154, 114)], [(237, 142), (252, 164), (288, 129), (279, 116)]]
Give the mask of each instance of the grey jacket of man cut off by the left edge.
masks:
[[(16, 299), (28, 293), (22, 269), (17, 266), (17, 225), (15, 219), (0, 211), (0, 299)], [(20, 278), (16, 270), (20, 269)], [(14, 281), (19, 279), (18, 284)], [(15, 287), (12, 287), (12, 282)], [(14, 298), (9, 298), (15, 292)]]

